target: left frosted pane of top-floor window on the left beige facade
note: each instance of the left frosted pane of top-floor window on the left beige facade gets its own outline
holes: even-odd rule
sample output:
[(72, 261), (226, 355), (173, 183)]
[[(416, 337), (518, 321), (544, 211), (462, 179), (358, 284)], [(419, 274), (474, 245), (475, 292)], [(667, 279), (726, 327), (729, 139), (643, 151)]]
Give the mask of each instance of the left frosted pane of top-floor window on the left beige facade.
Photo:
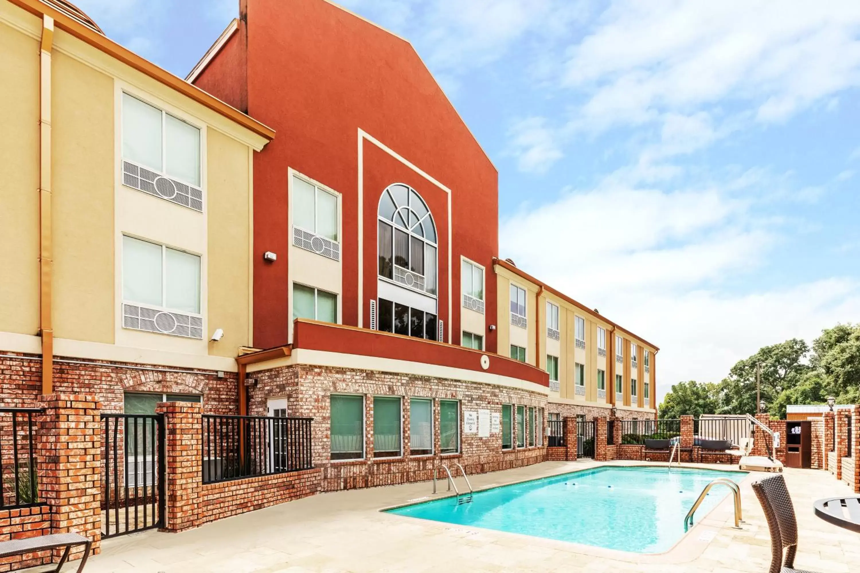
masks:
[(162, 111), (122, 94), (122, 156), (162, 171)]

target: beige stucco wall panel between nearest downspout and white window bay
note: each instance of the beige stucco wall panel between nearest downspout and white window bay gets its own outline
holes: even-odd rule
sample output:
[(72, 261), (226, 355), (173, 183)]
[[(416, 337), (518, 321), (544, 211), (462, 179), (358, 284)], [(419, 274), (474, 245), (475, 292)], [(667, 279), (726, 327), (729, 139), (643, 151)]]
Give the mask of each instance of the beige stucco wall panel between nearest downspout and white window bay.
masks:
[(114, 80), (52, 57), (54, 336), (114, 342)]

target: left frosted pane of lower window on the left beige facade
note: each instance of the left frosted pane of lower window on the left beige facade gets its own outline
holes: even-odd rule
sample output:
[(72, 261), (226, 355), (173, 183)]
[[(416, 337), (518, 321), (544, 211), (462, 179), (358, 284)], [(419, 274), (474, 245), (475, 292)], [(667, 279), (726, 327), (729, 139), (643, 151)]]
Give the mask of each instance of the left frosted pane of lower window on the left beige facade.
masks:
[(162, 306), (162, 246), (122, 238), (122, 298)]

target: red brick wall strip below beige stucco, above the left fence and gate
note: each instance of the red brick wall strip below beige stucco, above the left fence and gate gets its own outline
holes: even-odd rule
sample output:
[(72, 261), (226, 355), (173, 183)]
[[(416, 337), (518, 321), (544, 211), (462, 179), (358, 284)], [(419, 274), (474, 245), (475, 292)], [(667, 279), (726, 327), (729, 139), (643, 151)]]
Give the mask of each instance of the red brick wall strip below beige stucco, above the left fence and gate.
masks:
[[(63, 362), (69, 361), (69, 362)], [(158, 365), (86, 361), (56, 357), (54, 392), (95, 395), (105, 412), (123, 411), (123, 393), (194, 393), (203, 395), (207, 413), (237, 413), (237, 374), (214, 371), (177, 372)], [(41, 393), (41, 358), (19, 354), (0, 357), (0, 402), (33, 406)]]

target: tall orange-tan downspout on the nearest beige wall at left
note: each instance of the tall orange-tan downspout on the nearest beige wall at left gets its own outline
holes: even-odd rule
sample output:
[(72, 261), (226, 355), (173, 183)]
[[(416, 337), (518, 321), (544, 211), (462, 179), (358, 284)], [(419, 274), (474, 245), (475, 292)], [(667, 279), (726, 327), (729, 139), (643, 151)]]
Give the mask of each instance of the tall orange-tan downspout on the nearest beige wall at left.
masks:
[(42, 338), (42, 394), (53, 392), (51, 217), (51, 50), (53, 18), (42, 15), (39, 51), (39, 334)]

